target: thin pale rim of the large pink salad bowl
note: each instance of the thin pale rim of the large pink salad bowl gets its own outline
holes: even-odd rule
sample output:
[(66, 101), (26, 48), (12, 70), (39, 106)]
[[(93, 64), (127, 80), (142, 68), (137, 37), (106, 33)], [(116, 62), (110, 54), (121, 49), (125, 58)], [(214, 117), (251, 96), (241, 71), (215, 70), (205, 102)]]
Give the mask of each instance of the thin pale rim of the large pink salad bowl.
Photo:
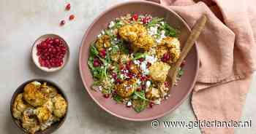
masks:
[(153, 2), (153, 1), (140, 1), (140, 0), (135, 0), (135, 1), (125, 1), (125, 2), (121, 2), (120, 4), (115, 4), (113, 6), (110, 6), (108, 7), (108, 9), (105, 9), (102, 13), (100, 13), (95, 19), (94, 21), (89, 25), (89, 27), (87, 28), (86, 30), (86, 33), (84, 33), (83, 35), (83, 39), (82, 39), (82, 42), (80, 44), (80, 50), (79, 50), (79, 58), (78, 58), (78, 63), (79, 63), (79, 72), (80, 72), (80, 77), (82, 79), (82, 82), (83, 82), (83, 86), (86, 88), (86, 92), (89, 93), (90, 97), (94, 100), (95, 103), (97, 103), (97, 105), (99, 107), (101, 107), (102, 109), (104, 109), (105, 111), (107, 111), (109, 114), (112, 114), (114, 117), (118, 117), (118, 118), (121, 118), (121, 119), (125, 119), (125, 120), (128, 120), (128, 121), (134, 121), (134, 122), (144, 122), (144, 121), (150, 121), (150, 120), (154, 120), (154, 119), (158, 119), (160, 117), (163, 117), (165, 116), (166, 114), (169, 114), (170, 112), (176, 110), (178, 108), (178, 106), (181, 106), (182, 103), (184, 103), (184, 101), (187, 100), (187, 98), (189, 97), (189, 95), (191, 94), (192, 92), (192, 89), (194, 88), (195, 86), (195, 82), (196, 82), (196, 78), (198, 76), (198, 68), (199, 68), (199, 55), (198, 55), (198, 50), (197, 50), (197, 45), (194, 45), (195, 46), (195, 51), (196, 51), (196, 57), (197, 57), (197, 63), (196, 63), (196, 70), (195, 70), (195, 79), (192, 81), (192, 85), (190, 87), (190, 89), (188, 90), (187, 94), (184, 96), (184, 98), (181, 99), (181, 101), (179, 101), (176, 106), (173, 107), (173, 109), (170, 109), (169, 111), (163, 113), (163, 114), (159, 114), (157, 116), (154, 116), (154, 117), (148, 117), (148, 118), (143, 118), (143, 119), (135, 119), (135, 118), (131, 118), (131, 117), (123, 117), (121, 115), (118, 115), (118, 114), (115, 114), (113, 113), (112, 111), (106, 109), (104, 106), (102, 106), (96, 98), (94, 98), (94, 95), (91, 94), (91, 92), (89, 92), (89, 89), (90, 87), (86, 84), (86, 80), (85, 80), (85, 76), (83, 76), (82, 74), (82, 68), (83, 68), (83, 65), (80, 63), (80, 61), (82, 60), (82, 47), (83, 47), (83, 42), (85, 42), (86, 40), (86, 36), (88, 36), (89, 34), (89, 31), (91, 31), (91, 28), (92, 26), (94, 25), (94, 23), (96, 23), (100, 17), (102, 17), (103, 15), (105, 15), (106, 13), (110, 12), (111, 10), (117, 8), (117, 7), (121, 7), (121, 6), (124, 6), (126, 4), (151, 4), (151, 5), (154, 5), (154, 6), (157, 6), (157, 7), (161, 7), (161, 8), (164, 8), (164, 9), (167, 9), (168, 11), (172, 12), (174, 15), (176, 15), (176, 17), (178, 17), (182, 23), (184, 23), (184, 25), (188, 28), (189, 30), (189, 33), (191, 32), (191, 28), (189, 27), (189, 25), (187, 24), (187, 22), (180, 16), (178, 15), (176, 12), (174, 12), (172, 9), (170, 8), (167, 8), (166, 6), (164, 5), (161, 5), (161, 4), (157, 4), (156, 2)]

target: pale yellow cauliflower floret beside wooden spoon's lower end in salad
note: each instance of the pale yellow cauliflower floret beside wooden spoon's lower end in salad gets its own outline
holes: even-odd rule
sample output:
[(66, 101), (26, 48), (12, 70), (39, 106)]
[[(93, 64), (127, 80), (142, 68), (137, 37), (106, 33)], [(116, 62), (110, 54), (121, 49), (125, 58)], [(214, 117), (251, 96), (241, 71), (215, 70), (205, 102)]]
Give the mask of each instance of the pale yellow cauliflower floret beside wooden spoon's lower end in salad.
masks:
[(149, 67), (149, 75), (157, 82), (165, 82), (169, 69), (167, 63), (159, 61)]

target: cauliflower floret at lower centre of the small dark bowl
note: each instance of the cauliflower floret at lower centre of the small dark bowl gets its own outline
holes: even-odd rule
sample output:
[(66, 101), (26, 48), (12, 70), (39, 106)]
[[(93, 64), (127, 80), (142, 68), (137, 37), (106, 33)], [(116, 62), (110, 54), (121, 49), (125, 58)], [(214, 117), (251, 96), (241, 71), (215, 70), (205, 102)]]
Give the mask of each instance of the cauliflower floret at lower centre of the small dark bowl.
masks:
[(37, 119), (40, 123), (47, 122), (48, 119), (52, 116), (50, 114), (50, 110), (47, 107), (39, 107), (35, 110), (35, 114), (37, 115)]

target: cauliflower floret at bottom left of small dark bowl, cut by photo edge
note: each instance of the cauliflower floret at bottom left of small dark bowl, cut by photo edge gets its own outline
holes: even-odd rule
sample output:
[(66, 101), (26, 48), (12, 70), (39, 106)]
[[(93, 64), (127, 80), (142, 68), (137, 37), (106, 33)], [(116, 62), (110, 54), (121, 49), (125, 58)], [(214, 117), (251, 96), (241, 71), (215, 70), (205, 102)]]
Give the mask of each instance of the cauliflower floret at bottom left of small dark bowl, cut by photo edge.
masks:
[(31, 134), (34, 134), (40, 128), (37, 117), (34, 116), (33, 109), (26, 109), (26, 111), (23, 112), (23, 117), (21, 120), (22, 120), (22, 127), (28, 130), (29, 133)]

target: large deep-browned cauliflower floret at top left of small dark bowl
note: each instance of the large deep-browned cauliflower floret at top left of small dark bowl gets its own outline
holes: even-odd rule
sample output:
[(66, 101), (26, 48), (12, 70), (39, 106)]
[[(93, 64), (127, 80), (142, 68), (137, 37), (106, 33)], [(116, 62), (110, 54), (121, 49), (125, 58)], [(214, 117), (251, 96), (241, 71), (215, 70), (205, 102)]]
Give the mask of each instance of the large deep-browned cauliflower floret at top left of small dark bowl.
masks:
[(47, 96), (39, 92), (40, 84), (31, 82), (24, 87), (23, 98), (31, 106), (42, 106), (48, 101)]

